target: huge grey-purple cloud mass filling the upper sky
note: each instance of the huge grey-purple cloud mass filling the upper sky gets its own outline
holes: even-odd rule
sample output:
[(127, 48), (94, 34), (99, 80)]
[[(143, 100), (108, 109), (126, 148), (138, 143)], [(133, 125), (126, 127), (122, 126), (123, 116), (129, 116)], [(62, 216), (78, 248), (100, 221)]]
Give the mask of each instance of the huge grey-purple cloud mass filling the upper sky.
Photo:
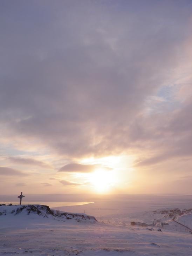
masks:
[(186, 56), (191, 7), (180, 7), (71, 1), (37, 12), (23, 1), (21, 13), (5, 4), (1, 133), (16, 148), (29, 141), (70, 159), (130, 149), (132, 123), (149, 97), (163, 99), (158, 89), (175, 82), (171, 70)]

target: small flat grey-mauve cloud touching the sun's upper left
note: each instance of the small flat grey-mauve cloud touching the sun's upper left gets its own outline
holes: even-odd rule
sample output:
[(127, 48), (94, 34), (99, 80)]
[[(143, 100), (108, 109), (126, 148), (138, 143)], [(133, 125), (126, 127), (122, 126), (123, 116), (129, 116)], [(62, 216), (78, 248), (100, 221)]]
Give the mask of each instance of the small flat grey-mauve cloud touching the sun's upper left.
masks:
[(74, 173), (90, 173), (96, 169), (112, 170), (109, 167), (102, 166), (101, 164), (80, 164), (80, 163), (69, 163), (59, 169), (59, 172), (74, 172)]

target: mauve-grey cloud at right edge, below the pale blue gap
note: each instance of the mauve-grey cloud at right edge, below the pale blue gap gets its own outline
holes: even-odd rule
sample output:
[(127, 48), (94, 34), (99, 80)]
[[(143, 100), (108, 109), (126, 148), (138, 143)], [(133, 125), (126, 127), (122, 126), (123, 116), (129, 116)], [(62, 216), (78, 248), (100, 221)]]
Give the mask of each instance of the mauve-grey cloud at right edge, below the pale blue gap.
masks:
[(137, 143), (140, 143), (140, 148), (146, 148), (147, 144), (148, 150), (152, 152), (135, 166), (151, 166), (170, 159), (191, 159), (191, 109), (192, 96), (179, 109), (160, 114), (158, 117), (153, 115), (145, 122), (142, 118), (140, 124), (134, 125), (133, 133), (137, 137)]

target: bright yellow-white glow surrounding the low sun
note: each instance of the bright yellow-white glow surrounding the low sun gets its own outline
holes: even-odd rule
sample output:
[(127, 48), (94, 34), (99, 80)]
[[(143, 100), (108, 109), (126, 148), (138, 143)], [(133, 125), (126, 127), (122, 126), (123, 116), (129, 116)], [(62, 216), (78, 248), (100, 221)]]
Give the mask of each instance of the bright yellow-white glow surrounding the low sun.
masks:
[(128, 191), (134, 179), (134, 155), (110, 155), (100, 158), (81, 159), (81, 164), (95, 164), (96, 169), (90, 173), (83, 173), (84, 184), (88, 190), (97, 193), (116, 193)]

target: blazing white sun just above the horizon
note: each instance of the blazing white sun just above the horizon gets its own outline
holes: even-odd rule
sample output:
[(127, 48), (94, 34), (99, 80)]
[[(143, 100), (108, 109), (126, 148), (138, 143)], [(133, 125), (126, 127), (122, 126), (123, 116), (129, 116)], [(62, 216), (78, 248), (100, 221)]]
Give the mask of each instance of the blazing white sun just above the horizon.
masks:
[(97, 193), (109, 191), (116, 183), (114, 171), (97, 169), (90, 174), (90, 183), (94, 186)]

